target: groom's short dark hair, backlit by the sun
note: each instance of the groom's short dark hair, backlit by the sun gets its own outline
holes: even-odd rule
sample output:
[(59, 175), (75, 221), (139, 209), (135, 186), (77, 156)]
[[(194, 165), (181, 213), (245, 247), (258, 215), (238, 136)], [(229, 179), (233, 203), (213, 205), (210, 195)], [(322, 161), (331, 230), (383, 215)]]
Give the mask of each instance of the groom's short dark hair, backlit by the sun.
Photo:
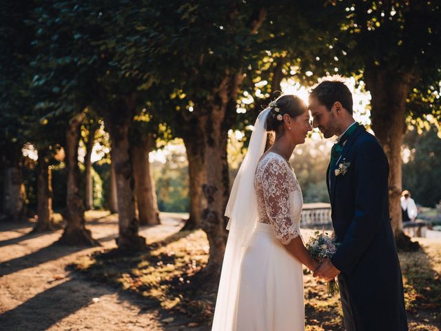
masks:
[(340, 102), (349, 114), (352, 114), (352, 94), (349, 88), (342, 82), (342, 78), (330, 77), (322, 81), (311, 90), (309, 97), (315, 97), (328, 111), (336, 101)]

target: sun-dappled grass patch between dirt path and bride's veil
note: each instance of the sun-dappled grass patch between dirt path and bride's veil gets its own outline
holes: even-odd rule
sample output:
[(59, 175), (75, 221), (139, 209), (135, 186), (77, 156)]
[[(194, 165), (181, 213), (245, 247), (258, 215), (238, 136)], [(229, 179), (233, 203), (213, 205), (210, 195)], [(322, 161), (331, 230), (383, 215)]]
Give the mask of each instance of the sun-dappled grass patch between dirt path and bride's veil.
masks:
[(142, 298), (140, 308), (147, 304), (158, 309), (161, 319), (174, 314), (176, 326), (195, 323), (207, 330), (215, 294), (202, 291), (203, 284), (197, 280), (207, 260), (207, 244), (200, 237), (201, 232), (176, 232), (141, 253), (101, 250), (68, 269), (81, 270), (90, 279), (131, 292)]

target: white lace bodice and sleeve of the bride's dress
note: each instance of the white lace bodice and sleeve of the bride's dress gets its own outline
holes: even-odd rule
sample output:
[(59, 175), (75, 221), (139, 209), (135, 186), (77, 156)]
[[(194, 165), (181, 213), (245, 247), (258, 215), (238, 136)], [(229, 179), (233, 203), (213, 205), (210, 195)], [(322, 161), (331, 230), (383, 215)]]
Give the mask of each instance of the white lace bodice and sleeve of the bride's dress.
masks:
[(296, 174), (283, 157), (268, 152), (254, 176), (259, 221), (270, 224), (277, 239), (287, 244), (300, 235), (303, 198)]

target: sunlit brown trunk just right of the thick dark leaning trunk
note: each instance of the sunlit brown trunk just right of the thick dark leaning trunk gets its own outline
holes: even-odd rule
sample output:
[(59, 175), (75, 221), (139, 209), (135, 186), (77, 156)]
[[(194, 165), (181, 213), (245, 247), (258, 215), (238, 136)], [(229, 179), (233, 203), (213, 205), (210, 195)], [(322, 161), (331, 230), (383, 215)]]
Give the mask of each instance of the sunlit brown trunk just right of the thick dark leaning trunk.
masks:
[(160, 224), (158, 202), (152, 174), (150, 174), (149, 152), (154, 139), (147, 134), (145, 139), (132, 143), (132, 165), (135, 180), (136, 205), (141, 225)]

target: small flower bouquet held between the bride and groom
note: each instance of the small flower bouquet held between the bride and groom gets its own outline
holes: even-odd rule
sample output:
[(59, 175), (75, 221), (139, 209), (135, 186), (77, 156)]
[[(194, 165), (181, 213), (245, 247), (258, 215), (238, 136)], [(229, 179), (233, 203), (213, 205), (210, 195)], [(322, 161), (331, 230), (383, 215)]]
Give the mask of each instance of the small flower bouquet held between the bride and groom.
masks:
[[(306, 248), (313, 259), (321, 261), (322, 259), (330, 259), (337, 251), (340, 243), (336, 243), (334, 237), (329, 237), (327, 232), (314, 232), (314, 237), (311, 237), (306, 244)], [(338, 292), (338, 284), (335, 279), (328, 283), (328, 295), (333, 296)]]

